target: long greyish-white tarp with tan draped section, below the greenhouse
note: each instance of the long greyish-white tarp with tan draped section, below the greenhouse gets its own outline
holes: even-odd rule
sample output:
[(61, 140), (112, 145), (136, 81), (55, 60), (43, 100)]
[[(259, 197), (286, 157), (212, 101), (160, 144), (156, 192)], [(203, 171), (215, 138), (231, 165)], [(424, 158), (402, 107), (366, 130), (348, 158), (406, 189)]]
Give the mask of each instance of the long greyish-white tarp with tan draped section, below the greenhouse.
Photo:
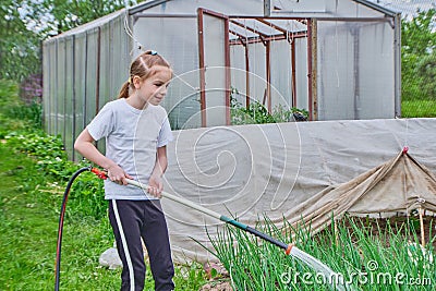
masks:
[[(165, 190), (252, 227), (264, 215), (278, 227), (283, 218), (312, 219), (318, 230), (331, 213), (387, 216), (420, 205), (436, 211), (435, 132), (436, 119), (178, 131), (168, 147)], [(162, 204), (174, 259), (216, 259), (198, 242), (210, 247), (207, 232), (214, 238), (223, 222)]]

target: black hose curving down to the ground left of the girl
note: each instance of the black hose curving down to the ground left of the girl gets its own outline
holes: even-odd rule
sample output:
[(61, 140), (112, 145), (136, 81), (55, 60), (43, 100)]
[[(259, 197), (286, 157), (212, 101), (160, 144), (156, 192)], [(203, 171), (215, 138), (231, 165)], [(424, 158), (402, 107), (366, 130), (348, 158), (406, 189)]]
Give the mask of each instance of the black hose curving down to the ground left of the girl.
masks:
[(61, 207), (61, 214), (59, 216), (59, 227), (58, 227), (58, 244), (56, 246), (56, 268), (55, 268), (55, 291), (59, 290), (59, 277), (60, 277), (60, 268), (61, 268), (61, 246), (62, 246), (62, 232), (63, 232), (63, 217), (65, 216), (65, 207), (68, 196), (70, 194), (71, 186), (74, 180), (82, 172), (90, 171), (92, 167), (84, 167), (78, 169), (73, 175), (70, 178), (69, 183), (66, 184), (65, 192), (63, 193), (63, 201)]

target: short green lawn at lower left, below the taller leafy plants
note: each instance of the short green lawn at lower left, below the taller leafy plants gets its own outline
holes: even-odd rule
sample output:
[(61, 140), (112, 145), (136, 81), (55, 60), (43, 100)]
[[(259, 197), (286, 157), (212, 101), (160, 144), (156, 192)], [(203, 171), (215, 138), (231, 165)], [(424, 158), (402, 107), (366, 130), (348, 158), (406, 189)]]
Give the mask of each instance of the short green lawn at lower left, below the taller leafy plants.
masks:
[[(49, 290), (55, 258), (61, 187), (38, 172), (35, 161), (0, 145), (0, 290)], [(78, 193), (74, 193), (78, 194)], [(104, 203), (104, 202), (102, 202)], [(116, 290), (119, 271), (98, 266), (112, 244), (107, 220), (66, 217), (62, 250), (63, 290)]]

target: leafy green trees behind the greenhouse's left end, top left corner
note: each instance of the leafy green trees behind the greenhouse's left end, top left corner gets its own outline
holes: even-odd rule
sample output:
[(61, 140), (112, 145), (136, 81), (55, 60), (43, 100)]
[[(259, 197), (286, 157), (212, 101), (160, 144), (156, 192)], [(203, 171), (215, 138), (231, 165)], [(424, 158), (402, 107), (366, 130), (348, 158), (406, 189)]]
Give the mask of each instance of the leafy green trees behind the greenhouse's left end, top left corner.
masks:
[[(128, 1), (129, 5), (142, 1)], [(41, 70), (41, 41), (125, 7), (123, 0), (1, 0), (0, 78)]]

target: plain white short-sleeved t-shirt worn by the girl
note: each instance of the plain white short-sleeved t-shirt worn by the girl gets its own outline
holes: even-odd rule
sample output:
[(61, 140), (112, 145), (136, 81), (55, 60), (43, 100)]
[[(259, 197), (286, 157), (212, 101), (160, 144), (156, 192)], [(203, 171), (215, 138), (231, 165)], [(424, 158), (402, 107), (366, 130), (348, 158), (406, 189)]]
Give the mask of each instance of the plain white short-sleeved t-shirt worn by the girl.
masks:
[[(134, 180), (148, 184), (156, 163), (157, 148), (172, 141), (167, 111), (161, 106), (144, 110), (130, 106), (125, 98), (106, 104), (87, 125), (90, 136), (106, 137), (106, 157), (117, 162)], [(106, 199), (156, 199), (133, 185), (105, 181)]]

